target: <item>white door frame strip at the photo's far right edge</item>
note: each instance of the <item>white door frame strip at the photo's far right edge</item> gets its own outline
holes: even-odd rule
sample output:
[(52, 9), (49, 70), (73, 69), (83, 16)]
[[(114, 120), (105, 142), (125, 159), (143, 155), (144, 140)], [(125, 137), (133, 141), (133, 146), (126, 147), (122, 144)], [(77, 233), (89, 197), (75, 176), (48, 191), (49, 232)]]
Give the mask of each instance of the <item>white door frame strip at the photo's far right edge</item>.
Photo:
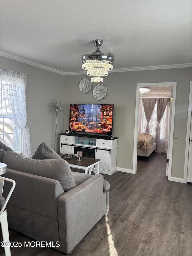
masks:
[(184, 163), (183, 183), (187, 183), (191, 114), (192, 114), (192, 81), (190, 81), (190, 91), (189, 91), (189, 106), (188, 106), (188, 117), (187, 117), (187, 134), (186, 134), (186, 145), (185, 145), (185, 163)]

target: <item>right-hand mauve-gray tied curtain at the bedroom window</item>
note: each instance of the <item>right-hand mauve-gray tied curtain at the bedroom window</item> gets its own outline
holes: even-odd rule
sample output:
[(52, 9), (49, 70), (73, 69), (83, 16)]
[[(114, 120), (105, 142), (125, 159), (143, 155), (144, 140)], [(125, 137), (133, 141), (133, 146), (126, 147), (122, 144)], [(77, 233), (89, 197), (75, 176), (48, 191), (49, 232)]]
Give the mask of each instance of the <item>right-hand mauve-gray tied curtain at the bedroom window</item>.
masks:
[(169, 102), (169, 98), (157, 98), (157, 127), (155, 132), (155, 143), (157, 153), (164, 153), (165, 151), (165, 139), (160, 140), (160, 122), (164, 115), (165, 109)]

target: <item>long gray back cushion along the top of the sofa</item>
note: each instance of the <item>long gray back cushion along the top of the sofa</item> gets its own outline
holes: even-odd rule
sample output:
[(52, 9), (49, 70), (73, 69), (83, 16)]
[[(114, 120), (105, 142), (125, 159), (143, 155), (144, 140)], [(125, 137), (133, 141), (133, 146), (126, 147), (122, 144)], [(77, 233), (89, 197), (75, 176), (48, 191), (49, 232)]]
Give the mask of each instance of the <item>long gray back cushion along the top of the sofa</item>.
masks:
[(3, 161), (7, 168), (58, 180), (64, 192), (76, 187), (70, 166), (63, 159), (36, 160), (7, 151)]

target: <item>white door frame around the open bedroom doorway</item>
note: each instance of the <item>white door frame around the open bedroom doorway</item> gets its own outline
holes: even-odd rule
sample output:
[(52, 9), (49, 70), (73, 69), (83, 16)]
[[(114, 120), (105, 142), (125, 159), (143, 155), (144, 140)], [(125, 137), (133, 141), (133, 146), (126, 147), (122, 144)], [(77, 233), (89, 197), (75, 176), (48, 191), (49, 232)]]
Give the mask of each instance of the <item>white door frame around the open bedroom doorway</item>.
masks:
[(170, 124), (170, 148), (169, 148), (169, 166), (168, 166), (168, 180), (171, 180), (171, 167), (172, 167), (172, 155), (173, 155), (173, 135), (174, 135), (174, 120), (175, 120), (175, 103), (176, 103), (176, 86), (177, 82), (164, 82), (164, 83), (137, 83), (136, 87), (136, 104), (135, 104), (135, 128), (134, 128), (134, 152), (133, 152), (133, 173), (137, 173), (137, 134), (138, 134), (138, 119), (139, 119), (139, 100), (141, 86), (173, 86), (173, 101), (171, 124)]

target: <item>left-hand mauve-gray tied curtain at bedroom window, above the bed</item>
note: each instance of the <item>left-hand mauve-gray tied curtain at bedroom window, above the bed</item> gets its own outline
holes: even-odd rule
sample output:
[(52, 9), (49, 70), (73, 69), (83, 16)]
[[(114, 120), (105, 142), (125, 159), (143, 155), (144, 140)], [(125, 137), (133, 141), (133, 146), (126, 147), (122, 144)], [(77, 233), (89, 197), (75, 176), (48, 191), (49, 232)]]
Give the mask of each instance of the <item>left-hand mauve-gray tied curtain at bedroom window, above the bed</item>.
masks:
[(153, 110), (155, 108), (156, 98), (142, 98), (142, 102), (143, 102), (143, 109), (145, 112), (145, 116), (147, 119), (147, 126), (146, 126), (145, 133), (150, 134), (149, 122), (151, 121)]

